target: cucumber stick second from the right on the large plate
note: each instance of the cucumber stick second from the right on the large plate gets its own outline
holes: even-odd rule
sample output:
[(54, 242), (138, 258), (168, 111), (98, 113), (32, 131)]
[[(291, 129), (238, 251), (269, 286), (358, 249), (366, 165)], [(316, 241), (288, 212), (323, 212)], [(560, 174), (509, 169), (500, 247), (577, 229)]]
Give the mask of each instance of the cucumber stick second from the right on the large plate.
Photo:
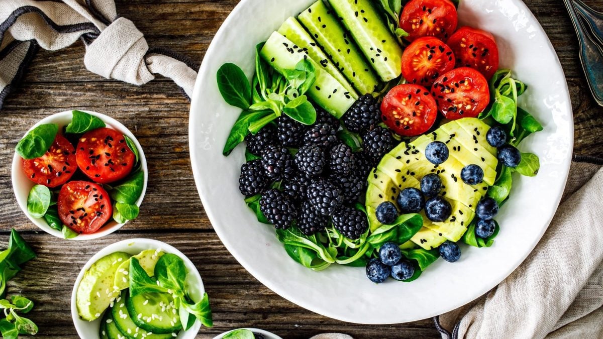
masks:
[(350, 34), (339, 24), (322, 0), (318, 0), (301, 12), (297, 19), (314, 36), (318, 45), (324, 49), (333, 63), (338, 66), (339, 71), (343, 72), (359, 93), (367, 94), (375, 91), (379, 80), (373, 73), (373, 68), (368, 65)]

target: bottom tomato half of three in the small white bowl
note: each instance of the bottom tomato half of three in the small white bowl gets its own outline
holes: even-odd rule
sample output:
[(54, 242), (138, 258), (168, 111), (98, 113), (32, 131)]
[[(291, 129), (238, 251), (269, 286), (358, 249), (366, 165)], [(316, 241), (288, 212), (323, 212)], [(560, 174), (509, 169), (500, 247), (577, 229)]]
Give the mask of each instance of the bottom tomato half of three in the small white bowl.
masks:
[(57, 200), (58, 217), (78, 233), (94, 233), (113, 215), (111, 200), (101, 185), (72, 181), (61, 188)]

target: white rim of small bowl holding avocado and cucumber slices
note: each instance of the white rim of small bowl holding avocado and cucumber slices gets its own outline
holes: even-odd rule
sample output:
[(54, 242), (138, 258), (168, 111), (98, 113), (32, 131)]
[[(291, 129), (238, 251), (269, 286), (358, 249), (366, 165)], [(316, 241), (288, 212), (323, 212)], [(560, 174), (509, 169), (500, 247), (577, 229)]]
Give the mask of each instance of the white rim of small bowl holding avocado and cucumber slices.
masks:
[[(86, 322), (85, 320), (81, 320), (80, 316), (77, 313), (77, 305), (75, 304), (75, 298), (76, 298), (76, 294), (77, 294), (77, 288), (80, 285), (80, 282), (84, 276), (84, 273), (90, 268), (90, 266), (92, 266), (92, 264), (94, 264), (96, 261), (98, 261), (98, 259), (101, 259), (106, 255), (110, 255), (111, 253), (115, 253), (115, 252), (134, 253), (134, 251), (128, 252), (128, 249), (130, 249), (131, 246), (133, 246), (135, 243), (137, 245), (147, 245), (150, 247), (150, 249), (161, 249), (165, 253), (172, 253), (177, 256), (180, 256), (180, 258), (182, 258), (182, 260), (185, 262), (185, 266), (187, 268), (189, 268), (188, 274), (192, 273), (193, 278), (197, 282), (199, 291), (200, 291), (199, 293), (201, 293), (201, 294), (204, 293), (205, 287), (203, 285), (203, 279), (201, 279), (201, 274), (199, 273), (199, 270), (197, 269), (195, 264), (193, 264), (191, 259), (188, 258), (188, 256), (186, 256), (184, 253), (180, 252), (180, 250), (176, 249), (174, 246), (166, 244), (165, 242), (157, 240), (157, 239), (149, 239), (149, 238), (131, 238), (131, 239), (124, 239), (124, 240), (121, 240), (118, 242), (113, 242), (112, 244), (109, 244), (109, 245), (103, 247), (98, 252), (96, 252), (92, 257), (90, 257), (90, 259), (88, 259), (86, 264), (84, 264), (84, 266), (81, 268), (80, 273), (78, 273), (78, 276), (75, 278), (74, 287), (71, 291), (71, 318), (74, 322), (75, 331), (77, 331), (78, 335), (80, 335), (81, 338), (84, 338), (83, 337), (84, 334), (81, 332), (81, 330), (83, 329), (84, 326), (93, 325), (96, 322), (99, 322), (100, 319), (102, 319), (102, 317), (99, 317), (97, 320), (94, 320), (92, 322)], [(139, 252), (136, 252), (132, 255), (136, 255), (137, 253), (139, 253)], [(194, 268), (194, 270), (191, 270), (190, 268)], [(93, 325), (93, 326), (96, 326), (96, 325)], [(186, 331), (181, 330), (180, 334), (178, 334), (177, 338), (192, 339), (195, 337), (195, 335), (197, 335), (200, 328), (201, 328), (201, 322), (199, 320), (197, 320), (195, 322), (195, 324), (193, 326), (191, 326), (190, 329), (188, 329)], [(98, 329), (97, 329), (97, 331), (98, 331)]]

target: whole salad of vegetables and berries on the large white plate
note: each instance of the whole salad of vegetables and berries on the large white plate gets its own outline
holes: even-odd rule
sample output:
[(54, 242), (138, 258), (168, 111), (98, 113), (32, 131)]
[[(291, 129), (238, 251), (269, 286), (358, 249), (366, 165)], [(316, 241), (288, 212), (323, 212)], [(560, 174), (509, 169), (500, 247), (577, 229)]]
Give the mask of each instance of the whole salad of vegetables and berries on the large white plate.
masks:
[(223, 153), (245, 143), (239, 190), (298, 263), (415, 280), (491, 246), (512, 174), (538, 173), (517, 149), (543, 129), (518, 106), (527, 86), (456, 5), (319, 0), (257, 45), (251, 83), (218, 70), (242, 109)]

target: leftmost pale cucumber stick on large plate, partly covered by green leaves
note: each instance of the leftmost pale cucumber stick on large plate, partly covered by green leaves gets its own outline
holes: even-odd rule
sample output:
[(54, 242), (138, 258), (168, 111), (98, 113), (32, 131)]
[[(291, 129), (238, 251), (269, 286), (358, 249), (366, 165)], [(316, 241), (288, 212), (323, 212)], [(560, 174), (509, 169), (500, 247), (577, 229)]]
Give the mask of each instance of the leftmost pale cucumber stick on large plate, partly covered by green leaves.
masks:
[(358, 95), (355, 92), (348, 92), (339, 81), (333, 78), (329, 72), (324, 71), (323, 67), (318, 65), (315, 60), (308, 58), (306, 51), (294, 49), (293, 46), (295, 44), (291, 40), (278, 32), (274, 32), (264, 44), (260, 55), (277, 72), (281, 73), (283, 69), (295, 69), (295, 65), (304, 58), (310, 60), (316, 68), (316, 80), (314, 86), (308, 90), (308, 95), (327, 112), (336, 116), (336, 118), (341, 118), (356, 101)]

